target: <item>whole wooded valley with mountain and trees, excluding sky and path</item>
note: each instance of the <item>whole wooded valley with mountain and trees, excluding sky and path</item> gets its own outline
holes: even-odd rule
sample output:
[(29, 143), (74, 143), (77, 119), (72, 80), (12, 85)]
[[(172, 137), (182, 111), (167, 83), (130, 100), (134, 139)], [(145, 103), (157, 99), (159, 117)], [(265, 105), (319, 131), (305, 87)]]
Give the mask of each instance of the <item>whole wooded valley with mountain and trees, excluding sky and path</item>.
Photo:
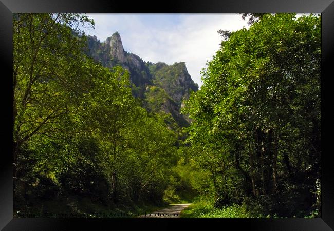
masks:
[(197, 90), (84, 14), (13, 14), (14, 217), (320, 217), (321, 16), (240, 17)]

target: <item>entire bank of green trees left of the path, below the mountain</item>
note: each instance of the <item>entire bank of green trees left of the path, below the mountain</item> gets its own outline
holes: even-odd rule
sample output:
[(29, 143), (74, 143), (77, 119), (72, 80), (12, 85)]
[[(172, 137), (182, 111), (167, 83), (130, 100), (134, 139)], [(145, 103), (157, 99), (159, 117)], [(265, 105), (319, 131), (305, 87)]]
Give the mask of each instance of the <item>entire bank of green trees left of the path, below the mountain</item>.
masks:
[(78, 23), (94, 25), (82, 14), (13, 15), (18, 214), (71, 196), (105, 206), (159, 204), (176, 165), (172, 124), (140, 106), (127, 70), (86, 56)]

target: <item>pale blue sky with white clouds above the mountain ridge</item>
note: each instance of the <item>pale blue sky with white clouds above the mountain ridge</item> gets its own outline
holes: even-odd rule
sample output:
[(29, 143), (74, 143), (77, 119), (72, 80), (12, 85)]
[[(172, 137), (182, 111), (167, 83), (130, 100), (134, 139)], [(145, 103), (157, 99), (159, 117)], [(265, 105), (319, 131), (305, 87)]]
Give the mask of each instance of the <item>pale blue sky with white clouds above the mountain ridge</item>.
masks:
[(95, 29), (85, 28), (103, 42), (118, 31), (124, 50), (146, 62), (172, 65), (185, 62), (195, 83), (202, 85), (200, 71), (220, 47), (219, 29), (236, 31), (249, 28), (240, 14), (161, 14), (89, 13)]

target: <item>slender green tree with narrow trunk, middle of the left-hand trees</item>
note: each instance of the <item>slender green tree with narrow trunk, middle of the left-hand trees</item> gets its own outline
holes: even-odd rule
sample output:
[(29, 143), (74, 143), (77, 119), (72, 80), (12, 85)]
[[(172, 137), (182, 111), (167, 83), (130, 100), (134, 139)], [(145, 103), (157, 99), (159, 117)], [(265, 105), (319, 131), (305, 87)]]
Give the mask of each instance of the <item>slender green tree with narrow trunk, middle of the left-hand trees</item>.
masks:
[(124, 143), (121, 130), (131, 120), (136, 101), (129, 87), (129, 74), (121, 67), (115, 67), (113, 73), (100, 68), (96, 74), (98, 78), (95, 79), (95, 88), (89, 92), (82, 107), (86, 108), (86, 119), (92, 133), (101, 143), (106, 157), (105, 169), (110, 171), (107, 175), (112, 182), (113, 198), (116, 201), (118, 172), (124, 161), (121, 153)]

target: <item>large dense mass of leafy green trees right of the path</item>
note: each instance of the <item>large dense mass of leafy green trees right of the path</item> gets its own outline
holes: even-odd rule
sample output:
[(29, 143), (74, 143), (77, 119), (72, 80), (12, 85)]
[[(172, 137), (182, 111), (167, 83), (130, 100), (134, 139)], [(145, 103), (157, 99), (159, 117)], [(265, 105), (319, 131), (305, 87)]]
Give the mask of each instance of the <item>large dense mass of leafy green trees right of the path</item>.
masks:
[(312, 14), (264, 14), (221, 42), (183, 110), (219, 206), (255, 198), (270, 216), (319, 210), (320, 63), (321, 18)]

